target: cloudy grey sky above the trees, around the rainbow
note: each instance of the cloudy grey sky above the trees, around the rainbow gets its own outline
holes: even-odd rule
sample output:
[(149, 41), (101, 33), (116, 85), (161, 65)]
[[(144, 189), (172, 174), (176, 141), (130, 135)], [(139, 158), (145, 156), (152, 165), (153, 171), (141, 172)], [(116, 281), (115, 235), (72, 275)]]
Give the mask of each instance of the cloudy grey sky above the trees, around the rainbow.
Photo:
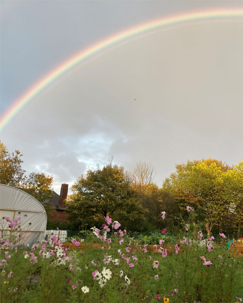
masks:
[[(107, 36), (158, 18), (242, 1), (0, 2), (0, 117), (56, 66)], [(113, 163), (155, 167), (161, 187), (175, 164), (243, 160), (243, 18), (161, 27), (106, 48), (35, 96), (0, 133), (26, 174), (54, 190)], [(70, 193), (70, 192), (69, 192)]]

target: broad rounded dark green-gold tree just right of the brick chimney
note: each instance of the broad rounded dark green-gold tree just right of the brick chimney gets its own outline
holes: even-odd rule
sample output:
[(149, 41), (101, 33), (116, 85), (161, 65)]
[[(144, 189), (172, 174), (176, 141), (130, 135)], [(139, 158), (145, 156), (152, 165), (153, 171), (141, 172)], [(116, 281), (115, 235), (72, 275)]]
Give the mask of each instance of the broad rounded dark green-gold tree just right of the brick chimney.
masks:
[(103, 169), (88, 170), (71, 187), (66, 205), (69, 220), (82, 227), (102, 224), (106, 215), (119, 221), (126, 228), (133, 228), (144, 221), (145, 211), (136, 191), (122, 166), (112, 165)]

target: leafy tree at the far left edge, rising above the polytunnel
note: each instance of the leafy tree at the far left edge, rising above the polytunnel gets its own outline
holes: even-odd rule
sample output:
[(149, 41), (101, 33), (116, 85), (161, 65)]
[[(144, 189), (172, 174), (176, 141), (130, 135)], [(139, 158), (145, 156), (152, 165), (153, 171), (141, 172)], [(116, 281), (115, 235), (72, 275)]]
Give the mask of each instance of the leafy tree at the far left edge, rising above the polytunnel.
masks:
[(21, 187), (25, 181), (25, 170), (21, 168), (22, 155), (18, 150), (9, 153), (0, 142), (0, 184)]

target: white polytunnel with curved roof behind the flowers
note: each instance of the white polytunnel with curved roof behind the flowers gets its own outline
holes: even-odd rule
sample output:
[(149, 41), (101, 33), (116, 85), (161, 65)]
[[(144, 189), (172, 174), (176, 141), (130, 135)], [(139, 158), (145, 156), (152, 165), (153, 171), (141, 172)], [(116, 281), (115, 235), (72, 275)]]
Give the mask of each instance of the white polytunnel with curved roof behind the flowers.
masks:
[[(16, 220), (20, 225), (20, 245), (33, 245), (38, 240), (45, 238), (47, 215), (43, 205), (28, 193), (15, 187), (0, 184), (0, 229), (5, 236), (13, 234), (19, 236), (19, 228), (9, 227), (4, 217)], [(31, 223), (31, 224), (30, 224)]]

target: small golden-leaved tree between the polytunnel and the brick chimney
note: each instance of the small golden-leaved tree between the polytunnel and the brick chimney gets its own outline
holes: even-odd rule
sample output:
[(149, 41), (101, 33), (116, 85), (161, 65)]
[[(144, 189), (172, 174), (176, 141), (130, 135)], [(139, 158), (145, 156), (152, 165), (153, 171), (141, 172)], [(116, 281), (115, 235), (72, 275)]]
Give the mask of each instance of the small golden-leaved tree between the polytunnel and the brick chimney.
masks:
[(44, 173), (31, 173), (22, 190), (28, 192), (39, 202), (52, 198), (53, 176)]

